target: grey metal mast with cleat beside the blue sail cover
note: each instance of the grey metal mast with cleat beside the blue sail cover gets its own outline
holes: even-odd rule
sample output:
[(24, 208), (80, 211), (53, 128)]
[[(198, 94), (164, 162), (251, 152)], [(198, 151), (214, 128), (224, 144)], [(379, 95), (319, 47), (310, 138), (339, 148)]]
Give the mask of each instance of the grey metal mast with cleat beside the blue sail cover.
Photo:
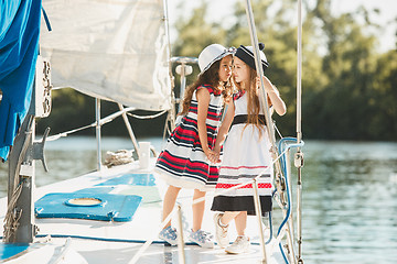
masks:
[(44, 143), (50, 129), (45, 130), (41, 142), (35, 142), (35, 118), (50, 114), (52, 89), (50, 63), (40, 56), (34, 79), (31, 105), (10, 153), (8, 210), (3, 235), (7, 243), (32, 243), (37, 233), (34, 221), (34, 161), (42, 161), (44, 170), (47, 172)]

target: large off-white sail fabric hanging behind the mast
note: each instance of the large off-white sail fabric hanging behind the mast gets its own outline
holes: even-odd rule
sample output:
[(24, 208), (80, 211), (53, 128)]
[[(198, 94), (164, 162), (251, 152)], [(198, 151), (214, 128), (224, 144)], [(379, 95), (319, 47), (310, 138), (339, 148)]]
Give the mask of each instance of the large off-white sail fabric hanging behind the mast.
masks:
[(144, 110), (171, 107), (163, 0), (43, 0), (54, 87)]

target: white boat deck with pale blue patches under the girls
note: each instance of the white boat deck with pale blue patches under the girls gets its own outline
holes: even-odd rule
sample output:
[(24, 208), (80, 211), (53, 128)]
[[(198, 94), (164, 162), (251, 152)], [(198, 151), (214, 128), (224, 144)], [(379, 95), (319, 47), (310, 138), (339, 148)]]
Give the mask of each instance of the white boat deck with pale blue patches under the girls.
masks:
[[(131, 175), (132, 177), (138, 175), (140, 178), (138, 182), (131, 183), (129, 179), (126, 180), (126, 175), (129, 175), (129, 178), (131, 178)], [(164, 245), (164, 242), (158, 239), (162, 215), (162, 197), (167, 190), (167, 185), (157, 179), (150, 169), (140, 169), (138, 162), (104, 168), (101, 172), (93, 172), (81, 177), (37, 188), (35, 190), (35, 200), (52, 193), (68, 194), (82, 190), (89, 190), (93, 196), (103, 191), (112, 195), (141, 196), (142, 201), (130, 221), (35, 218), (35, 224), (39, 227), (37, 240), (51, 238), (49, 239), (50, 243), (62, 245), (69, 238), (71, 249), (79, 253), (87, 263), (130, 263), (138, 251), (142, 252), (143, 249), (144, 251), (139, 260), (132, 263), (180, 263), (178, 246)], [(178, 198), (178, 202), (182, 206), (183, 228), (185, 231), (185, 263), (242, 263), (243, 261), (244, 263), (257, 263), (261, 260), (258, 226), (255, 217), (249, 217), (247, 224), (247, 234), (251, 240), (249, 253), (230, 255), (217, 246), (215, 249), (202, 249), (190, 243), (186, 232), (192, 222), (192, 195), (193, 190), (181, 190)], [(212, 196), (213, 194), (207, 193), (203, 230), (214, 233), (214, 212), (210, 210)], [(6, 215), (6, 200), (7, 198), (2, 198), (0, 201), (2, 205), (1, 218), (4, 218)], [(269, 233), (269, 230), (266, 230), (266, 233)], [(233, 223), (229, 228), (229, 238), (230, 241), (236, 238)], [(147, 241), (152, 242), (148, 244), (148, 248), (144, 244)], [(270, 254), (271, 249), (276, 249), (273, 254)], [(268, 244), (267, 252), (268, 263), (283, 263), (278, 245)]]

